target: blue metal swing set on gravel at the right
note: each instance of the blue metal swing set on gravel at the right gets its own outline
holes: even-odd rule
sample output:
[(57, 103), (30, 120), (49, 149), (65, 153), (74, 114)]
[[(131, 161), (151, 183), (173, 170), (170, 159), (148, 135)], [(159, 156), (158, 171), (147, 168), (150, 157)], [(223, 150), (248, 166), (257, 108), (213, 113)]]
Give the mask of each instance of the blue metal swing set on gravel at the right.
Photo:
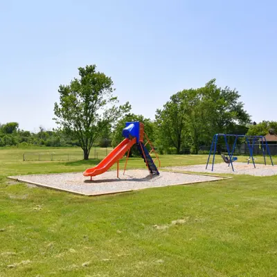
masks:
[[(238, 138), (244, 138), (246, 143), (247, 143), (247, 148), (249, 150), (248, 164), (249, 164), (249, 161), (252, 160), (253, 166), (254, 166), (254, 168), (256, 168), (255, 161), (254, 161), (254, 158), (253, 158), (253, 146), (259, 140), (261, 142), (262, 155), (264, 157), (265, 166), (267, 165), (267, 161), (266, 161), (266, 157), (265, 157), (266, 153), (269, 155), (271, 165), (274, 166), (274, 163), (272, 161), (271, 154), (270, 154), (269, 147), (267, 145), (267, 140), (265, 139), (265, 136), (247, 136), (247, 135), (242, 135), (242, 134), (215, 134), (213, 136), (213, 141), (211, 143), (210, 152), (208, 154), (208, 161), (206, 163), (206, 169), (208, 168), (208, 163), (210, 161), (211, 154), (213, 153), (213, 163), (212, 163), (212, 171), (213, 171), (213, 166), (214, 166), (214, 163), (215, 163), (215, 152), (217, 151), (217, 142), (218, 142), (218, 138), (220, 136), (224, 137), (224, 142), (225, 142), (226, 150), (227, 150), (227, 154), (228, 154), (227, 157), (224, 154), (222, 154), (221, 155), (222, 159), (225, 163), (228, 164), (228, 166), (231, 165), (233, 171), (234, 171), (233, 162), (238, 160), (238, 157), (233, 156), (233, 154), (235, 152), (235, 145), (238, 142)], [(227, 137), (235, 137), (235, 141), (233, 143), (233, 147), (232, 147), (231, 151), (230, 151), (230, 148), (229, 148), (229, 143), (227, 142)], [(250, 143), (251, 139), (252, 139), (252, 143)]]

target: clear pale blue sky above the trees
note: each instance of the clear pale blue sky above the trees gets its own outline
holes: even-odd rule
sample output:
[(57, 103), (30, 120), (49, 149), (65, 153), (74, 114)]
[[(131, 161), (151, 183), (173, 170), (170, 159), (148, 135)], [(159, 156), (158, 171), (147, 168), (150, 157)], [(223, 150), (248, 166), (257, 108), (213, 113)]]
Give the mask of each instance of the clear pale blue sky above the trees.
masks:
[(59, 84), (96, 64), (154, 118), (212, 78), (257, 122), (277, 120), (277, 1), (0, 0), (0, 122), (51, 128)]

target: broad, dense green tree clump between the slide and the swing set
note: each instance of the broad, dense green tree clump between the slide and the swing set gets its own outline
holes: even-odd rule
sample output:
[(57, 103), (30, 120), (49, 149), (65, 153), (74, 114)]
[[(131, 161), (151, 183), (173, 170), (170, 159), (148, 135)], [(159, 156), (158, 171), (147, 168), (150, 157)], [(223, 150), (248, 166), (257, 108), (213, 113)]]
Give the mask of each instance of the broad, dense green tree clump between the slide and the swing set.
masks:
[(156, 113), (159, 141), (180, 152), (189, 146), (198, 152), (215, 133), (228, 133), (238, 124), (246, 125), (250, 116), (235, 89), (217, 87), (215, 79), (199, 89), (184, 89), (170, 97)]

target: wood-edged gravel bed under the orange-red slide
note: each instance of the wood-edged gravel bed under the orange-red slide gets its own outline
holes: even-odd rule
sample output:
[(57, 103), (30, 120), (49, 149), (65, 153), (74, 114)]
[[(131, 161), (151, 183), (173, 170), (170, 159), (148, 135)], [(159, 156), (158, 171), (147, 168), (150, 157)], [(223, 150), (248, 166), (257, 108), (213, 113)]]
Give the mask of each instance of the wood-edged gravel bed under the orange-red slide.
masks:
[(12, 176), (9, 178), (28, 184), (35, 184), (37, 186), (64, 190), (87, 196), (123, 193), (143, 188), (193, 184), (222, 179), (221, 177), (164, 171), (160, 172), (158, 176), (151, 177), (148, 170), (127, 170), (125, 175), (123, 175), (123, 172), (120, 172), (119, 179), (116, 177), (116, 171), (108, 171), (102, 175), (93, 177), (92, 181), (89, 177), (84, 177), (82, 172), (24, 175)]

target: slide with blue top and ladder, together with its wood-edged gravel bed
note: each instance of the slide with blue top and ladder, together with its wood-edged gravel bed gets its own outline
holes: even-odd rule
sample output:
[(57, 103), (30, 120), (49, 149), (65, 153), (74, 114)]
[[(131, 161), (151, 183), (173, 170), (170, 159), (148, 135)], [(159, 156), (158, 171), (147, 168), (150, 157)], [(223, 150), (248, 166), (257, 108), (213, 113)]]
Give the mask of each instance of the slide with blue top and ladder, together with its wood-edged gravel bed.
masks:
[[(195, 184), (205, 181), (218, 181), (222, 177), (205, 175), (188, 175), (186, 173), (159, 172), (161, 162), (154, 146), (144, 132), (144, 125), (140, 122), (127, 122), (122, 131), (125, 139), (102, 159), (97, 166), (88, 168), (83, 173), (62, 173), (53, 175), (25, 175), (10, 176), (9, 179), (33, 184), (43, 188), (62, 190), (86, 196), (125, 193), (144, 188), (162, 186), (176, 186)], [(148, 145), (148, 148), (146, 147)], [(132, 147), (136, 147), (148, 170), (127, 170), (127, 161)], [(149, 151), (148, 151), (149, 150)], [(152, 159), (151, 153), (155, 159)], [(127, 153), (123, 172), (119, 170), (119, 161)], [(159, 163), (159, 167), (155, 164)], [(109, 171), (111, 166), (117, 165), (117, 170)], [(90, 179), (87, 179), (89, 177)]]

